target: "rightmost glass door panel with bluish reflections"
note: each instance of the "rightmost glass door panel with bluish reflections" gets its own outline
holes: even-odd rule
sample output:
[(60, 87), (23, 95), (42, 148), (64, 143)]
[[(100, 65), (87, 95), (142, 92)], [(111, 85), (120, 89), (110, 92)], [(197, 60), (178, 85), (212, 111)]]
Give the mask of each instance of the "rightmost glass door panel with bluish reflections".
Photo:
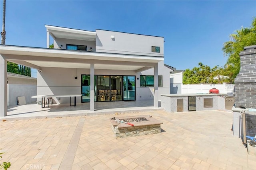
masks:
[(135, 100), (135, 76), (123, 76), (124, 100)]

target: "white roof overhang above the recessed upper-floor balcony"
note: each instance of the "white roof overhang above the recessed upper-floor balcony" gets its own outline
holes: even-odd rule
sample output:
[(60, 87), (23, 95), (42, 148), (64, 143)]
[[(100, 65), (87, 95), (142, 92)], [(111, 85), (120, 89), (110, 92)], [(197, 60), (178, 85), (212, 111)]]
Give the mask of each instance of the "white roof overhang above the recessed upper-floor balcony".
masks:
[(84, 41), (96, 41), (96, 32), (94, 31), (85, 31), (80, 29), (56, 27), (52, 25), (45, 25), (45, 27), (54, 39), (65, 38), (65, 39), (78, 39), (78, 40), (84, 40)]

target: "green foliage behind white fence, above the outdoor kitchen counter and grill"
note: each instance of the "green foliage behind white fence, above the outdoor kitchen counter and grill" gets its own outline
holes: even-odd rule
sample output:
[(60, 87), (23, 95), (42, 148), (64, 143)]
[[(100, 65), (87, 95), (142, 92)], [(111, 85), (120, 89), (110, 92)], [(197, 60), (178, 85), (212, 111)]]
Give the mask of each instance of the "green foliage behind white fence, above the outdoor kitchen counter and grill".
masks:
[(217, 84), (222, 82), (232, 83), (231, 78), (222, 78), (222, 76), (230, 77), (230, 68), (222, 68), (219, 66), (214, 66), (213, 68), (210, 68), (210, 66), (204, 65), (202, 63), (198, 63), (198, 66), (199, 67), (192, 68), (192, 70), (186, 69), (183, 72), (183, 84)]

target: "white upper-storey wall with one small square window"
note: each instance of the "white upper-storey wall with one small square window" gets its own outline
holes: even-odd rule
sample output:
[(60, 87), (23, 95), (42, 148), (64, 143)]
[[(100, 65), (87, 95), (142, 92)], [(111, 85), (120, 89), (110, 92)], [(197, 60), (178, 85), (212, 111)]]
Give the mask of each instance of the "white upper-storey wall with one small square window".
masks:
[[(138, 35), (96, 29), (96, 51), (132, 55), (164, 57), (164, 37)], [(111, 36), (114, 36), (112, 39)], [(160, 53), (151, 52), (151, 47), (160, 47)]]

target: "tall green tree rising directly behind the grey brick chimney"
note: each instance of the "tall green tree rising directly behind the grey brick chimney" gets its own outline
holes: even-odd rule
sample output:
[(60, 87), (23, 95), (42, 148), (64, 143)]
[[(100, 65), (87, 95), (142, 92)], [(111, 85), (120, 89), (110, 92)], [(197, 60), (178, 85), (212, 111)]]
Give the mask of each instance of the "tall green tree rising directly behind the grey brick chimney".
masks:
[(230, 35), (230, 41), (223, 45), (224, 56), (228, 57), (225, 67), (226, 71), (230, 72), (232, 81), (240, 71), (239, 53), (249, 45), (256, 45), (256, 18), (253, 19), (251, 27), (236, 30), (236, 33)]

